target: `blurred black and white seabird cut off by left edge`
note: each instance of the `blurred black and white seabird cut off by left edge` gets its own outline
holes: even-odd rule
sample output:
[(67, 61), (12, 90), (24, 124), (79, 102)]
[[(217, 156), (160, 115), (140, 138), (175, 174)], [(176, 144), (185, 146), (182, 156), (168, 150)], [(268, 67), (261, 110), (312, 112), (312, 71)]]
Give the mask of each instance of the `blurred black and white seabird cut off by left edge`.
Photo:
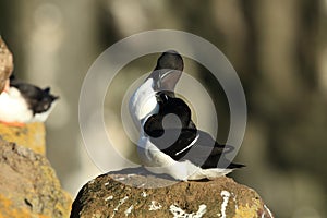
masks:
[(45, 122), (57, 99), (49, 87), (41, 89), (12, 76), (9, 87), (0, 95), (0, 121), (13, 125)]

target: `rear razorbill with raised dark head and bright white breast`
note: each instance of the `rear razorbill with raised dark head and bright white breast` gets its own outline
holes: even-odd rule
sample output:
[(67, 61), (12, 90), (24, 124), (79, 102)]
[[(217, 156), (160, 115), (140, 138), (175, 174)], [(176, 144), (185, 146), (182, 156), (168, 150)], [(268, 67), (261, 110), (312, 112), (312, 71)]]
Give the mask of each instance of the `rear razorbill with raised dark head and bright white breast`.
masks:
[(170, 90), (171, 97), (174, 96), (174, 87), (183, 69), (183, 59), (177, 51), (168, 50), (159, 57), (155, 70), (130, 99), (130, 113), (138, 129), (148, 116), (158, 112), (157, 92)]

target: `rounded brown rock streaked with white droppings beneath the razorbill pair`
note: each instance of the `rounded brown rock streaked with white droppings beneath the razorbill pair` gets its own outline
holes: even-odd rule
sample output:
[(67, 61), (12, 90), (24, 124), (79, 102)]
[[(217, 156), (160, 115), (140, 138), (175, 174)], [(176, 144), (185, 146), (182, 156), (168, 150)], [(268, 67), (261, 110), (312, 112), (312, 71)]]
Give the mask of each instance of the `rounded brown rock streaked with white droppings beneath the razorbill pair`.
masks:
[[(156, 189), (155, 189), (156, 187)], [(142, 168), (102, 174), (80, 191), (71, 218), (272, 217), (258, 194), (232, 179), (177, 182)]]

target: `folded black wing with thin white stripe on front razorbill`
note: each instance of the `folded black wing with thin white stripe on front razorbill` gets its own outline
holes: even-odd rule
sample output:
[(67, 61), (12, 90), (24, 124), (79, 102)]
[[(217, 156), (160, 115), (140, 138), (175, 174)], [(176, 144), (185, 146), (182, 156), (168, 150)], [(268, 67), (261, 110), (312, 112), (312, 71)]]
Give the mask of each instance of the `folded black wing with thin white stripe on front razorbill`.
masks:
[(229, 161), (225, 154), (233, 147), (217, 143), (208, 133), (196, 129), (154, 130), (150, 141), (166, 155), (174, 160), (190, 160), (196, 166), (207, 168), (239, 168), (238, 164)]

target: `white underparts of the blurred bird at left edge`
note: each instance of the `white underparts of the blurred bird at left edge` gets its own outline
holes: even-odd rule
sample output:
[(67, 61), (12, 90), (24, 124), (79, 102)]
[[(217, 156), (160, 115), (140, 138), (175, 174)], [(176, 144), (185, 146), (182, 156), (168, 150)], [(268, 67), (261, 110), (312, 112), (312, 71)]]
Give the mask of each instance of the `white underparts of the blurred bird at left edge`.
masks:
[(0, 120), (3, 122), (28, 122), (33, 117), (32, 110), (21, 93), (15, 87), (0, 95)]

